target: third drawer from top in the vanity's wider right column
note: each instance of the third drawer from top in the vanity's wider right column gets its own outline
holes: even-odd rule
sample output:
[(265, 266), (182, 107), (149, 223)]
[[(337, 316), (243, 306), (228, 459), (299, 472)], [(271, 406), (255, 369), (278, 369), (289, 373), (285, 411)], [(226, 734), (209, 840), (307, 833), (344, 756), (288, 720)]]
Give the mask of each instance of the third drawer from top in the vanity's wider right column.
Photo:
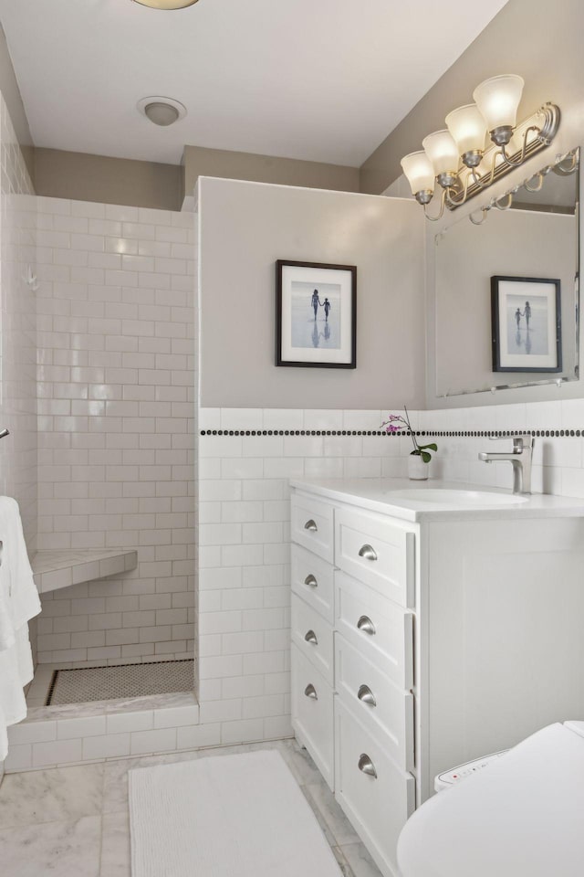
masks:
[(335, 634), (335, 691), (385, 752), (404, 770), (413, 768), (413, 694), (390, 682), (360, 652)]

